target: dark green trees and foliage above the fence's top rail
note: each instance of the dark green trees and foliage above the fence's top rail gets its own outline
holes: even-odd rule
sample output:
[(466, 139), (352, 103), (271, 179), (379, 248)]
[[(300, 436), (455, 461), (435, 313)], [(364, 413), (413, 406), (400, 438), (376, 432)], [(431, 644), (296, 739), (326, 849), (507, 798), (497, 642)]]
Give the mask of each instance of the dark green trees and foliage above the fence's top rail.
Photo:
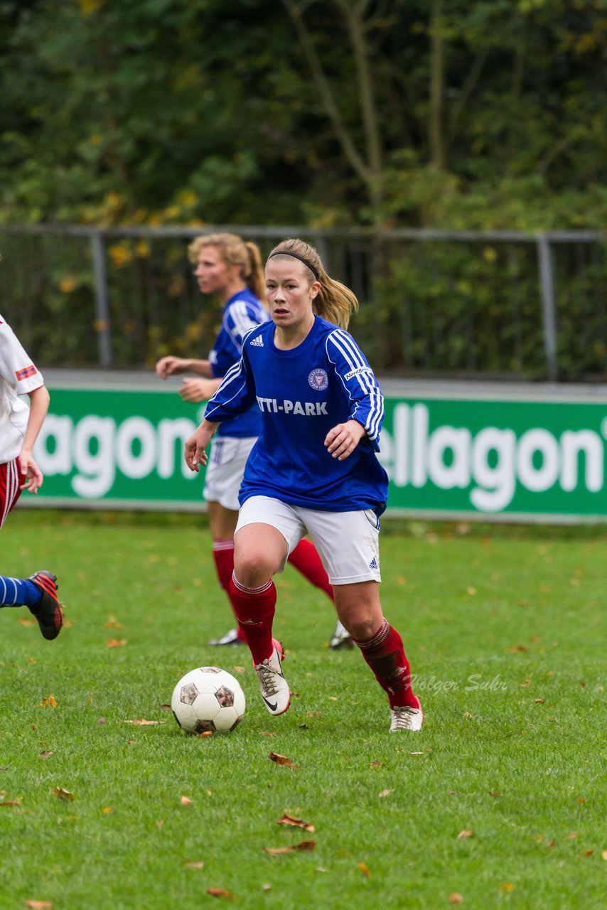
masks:
[(602, 226), (603, 0), (5, 0), (0, 217)]

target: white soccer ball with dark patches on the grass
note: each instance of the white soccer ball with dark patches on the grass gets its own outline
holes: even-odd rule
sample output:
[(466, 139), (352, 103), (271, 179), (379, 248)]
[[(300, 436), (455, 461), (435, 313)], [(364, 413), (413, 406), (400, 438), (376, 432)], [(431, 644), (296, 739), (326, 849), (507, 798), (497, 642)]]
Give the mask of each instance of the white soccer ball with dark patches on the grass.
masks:
[(171, 710), (187, 733), (229, 733), (245, 713), (245, 693), (226, 670), (197, 667), (177, 682)]

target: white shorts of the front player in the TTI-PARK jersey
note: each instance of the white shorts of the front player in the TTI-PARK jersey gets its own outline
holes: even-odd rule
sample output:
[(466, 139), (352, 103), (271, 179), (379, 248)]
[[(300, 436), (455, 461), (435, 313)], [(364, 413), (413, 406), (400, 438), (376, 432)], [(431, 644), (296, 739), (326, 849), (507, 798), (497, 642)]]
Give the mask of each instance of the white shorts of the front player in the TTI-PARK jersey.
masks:
[(379, 519), (371, 509), (318, 511), (269, 496), (251, 496), (240, 507), (235, 536), (248, 524), (269, 524), (284, 537), (287, 550), (278, 571), (284, 570), (288, 554), (308, 533), (332, 585), (381, 581)]

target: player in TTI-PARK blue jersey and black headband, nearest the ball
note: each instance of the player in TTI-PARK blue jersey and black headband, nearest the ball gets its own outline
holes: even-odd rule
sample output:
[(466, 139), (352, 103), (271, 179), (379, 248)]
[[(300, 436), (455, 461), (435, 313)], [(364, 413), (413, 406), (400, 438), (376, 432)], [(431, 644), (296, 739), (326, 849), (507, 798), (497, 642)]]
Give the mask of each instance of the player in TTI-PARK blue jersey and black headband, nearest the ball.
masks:
[(198, 470), (218, 425), (257, 401), (262, 429), (240, 488), (230, 591), (262, 698), (272, 714), (288, 709), (282, 646), (272, 637), (272, 576), (309, 532), (339, 619), (388, 693), (390, 731), (420, 730), (423, 714), (402, 640), (379, 602), (379, 515), (388, 494), (376, 455), (383, 397), (344, 330), (358, 301), (297, 239), (270, 253), (266, 296), (272, 321), (245, 336), (240, 361), (186, 442), (187, 465)]

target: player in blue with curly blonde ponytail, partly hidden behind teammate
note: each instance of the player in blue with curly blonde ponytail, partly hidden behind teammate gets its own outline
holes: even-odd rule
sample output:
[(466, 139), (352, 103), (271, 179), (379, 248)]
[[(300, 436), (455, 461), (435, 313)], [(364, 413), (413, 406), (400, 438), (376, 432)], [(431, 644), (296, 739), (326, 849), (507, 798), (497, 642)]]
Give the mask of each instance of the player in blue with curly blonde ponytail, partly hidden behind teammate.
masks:
[[(258, 246), (246, 243), (236, 234), (217, 233), (195, 238), (188, 247), (190, 261), (203, 294), (218, 298), (222, 306), (221, 328), (207, 360), (163, 357), (156, 365), (162, 379), (185, 372), (197, 373), (204, 379), (186, 378), (180, 389), (184, 401), (205, 401), (218, 389), (228, 369), (238, 363), (242, 339), (249, 329), (268, 321), (265, 279)], [(234, 531), (238, 521), (238, 490), (248, 454), (261, 429), (261, 414), (255, 401), (231, 420), (222, 423), (213, 441), (205, 477), (204, 497), (208, 523), (213, 538), (213, 556), (219, 584), (228, 593), (234, 569)], [(289, 561), (312, 584), (333, 600), (319, 554), (310, 541), (301, 541)], [(245, 643), (238, 626), (209, 644)], [(330, 640), (332, 647), (351, 645), (349, 633), (340, 622)]]

